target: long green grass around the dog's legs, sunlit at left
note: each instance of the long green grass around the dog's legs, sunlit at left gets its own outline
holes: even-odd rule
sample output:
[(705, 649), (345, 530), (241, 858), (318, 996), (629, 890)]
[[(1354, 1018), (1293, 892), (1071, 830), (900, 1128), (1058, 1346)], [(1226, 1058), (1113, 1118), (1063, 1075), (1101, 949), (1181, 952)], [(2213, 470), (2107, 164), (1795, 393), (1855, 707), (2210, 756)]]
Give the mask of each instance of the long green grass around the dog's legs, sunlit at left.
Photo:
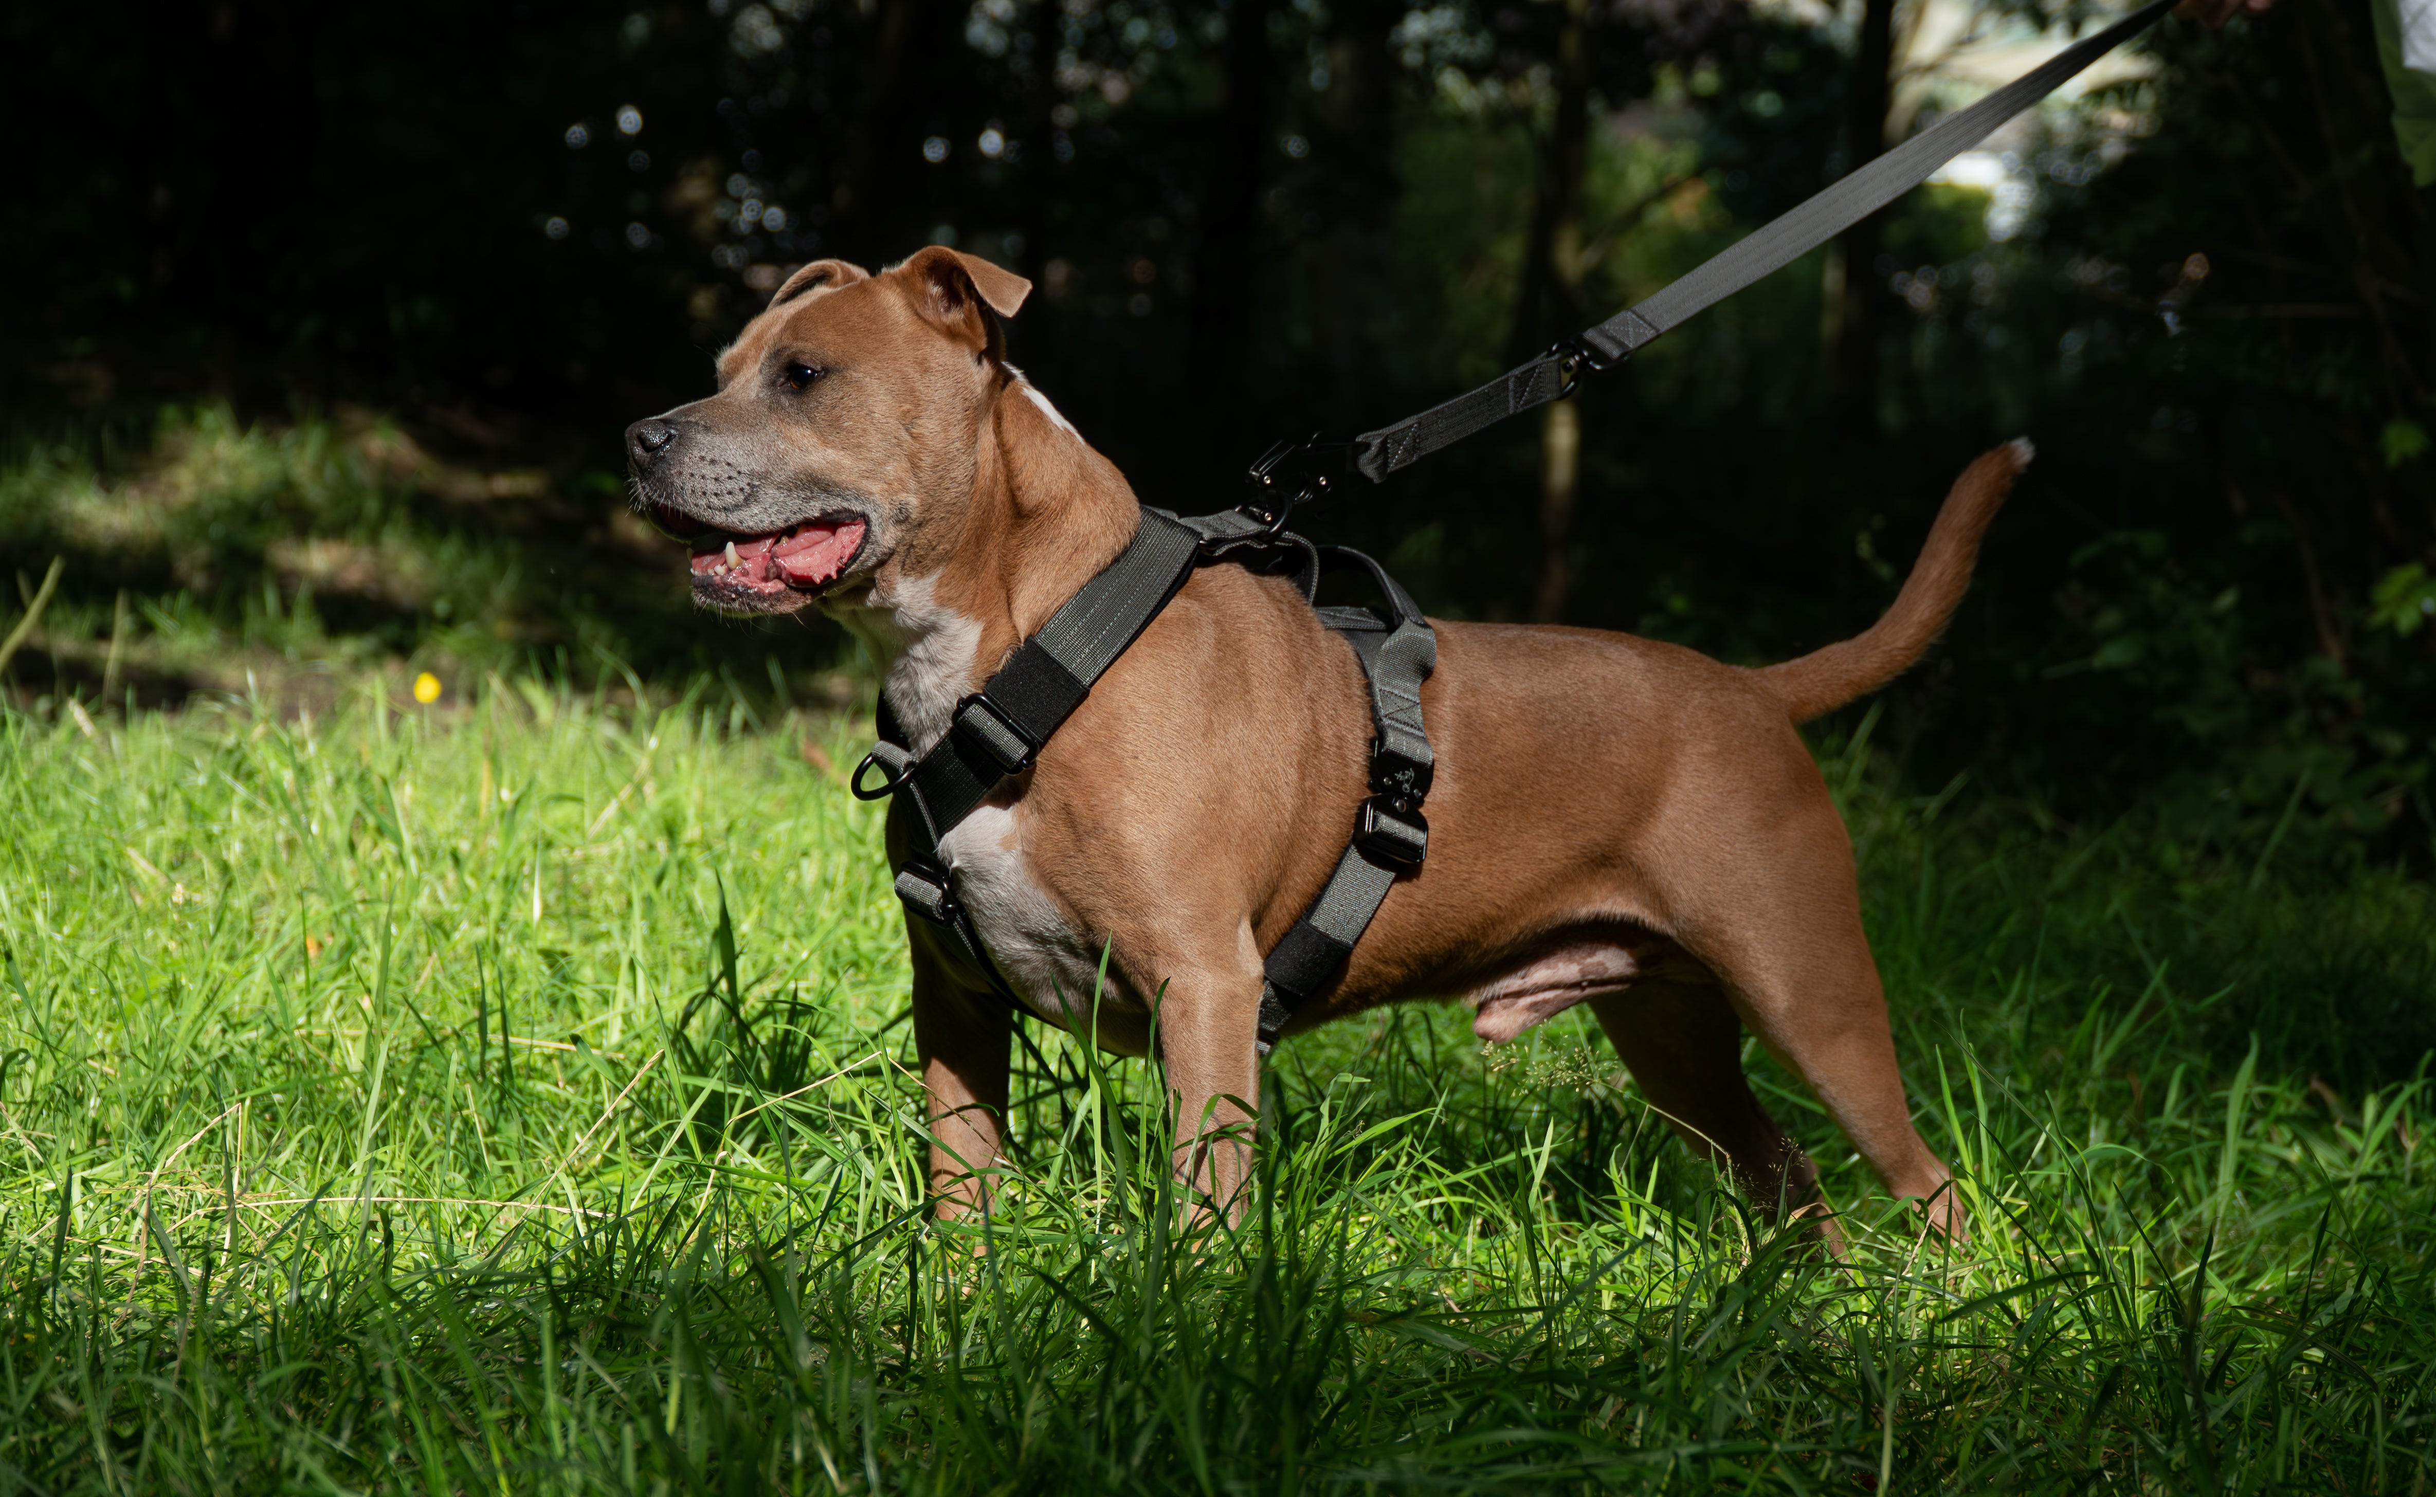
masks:
[[(451, 696), (448, 701), (460, 701)], [(1922, 1244), (1846, 1266), (1588, 1020), (1279, 1054), (1240, 1232), (1030, 1027), (940, 1227), (845, 723), (733, 686), (0, 721), (0, 1490), (2421, 1492), (2436, 910), (1829, 757)], [(987, 1241), (987, 1254), (977, 1254)]]

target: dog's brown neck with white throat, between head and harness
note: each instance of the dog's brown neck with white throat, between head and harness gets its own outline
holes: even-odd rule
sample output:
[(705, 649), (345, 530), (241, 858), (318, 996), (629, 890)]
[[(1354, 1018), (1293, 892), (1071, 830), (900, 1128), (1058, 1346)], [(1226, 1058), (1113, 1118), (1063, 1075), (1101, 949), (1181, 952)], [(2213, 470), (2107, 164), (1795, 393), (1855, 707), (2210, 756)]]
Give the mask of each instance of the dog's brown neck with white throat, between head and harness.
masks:
[(926, 577), (875, 589), (850, 621), (879, 662), (914, 752), (955, 703), (1006, 665), (1140, 526), (1133, 487), (1023, 380), (996, 389), (974, 453), (955, 553)]

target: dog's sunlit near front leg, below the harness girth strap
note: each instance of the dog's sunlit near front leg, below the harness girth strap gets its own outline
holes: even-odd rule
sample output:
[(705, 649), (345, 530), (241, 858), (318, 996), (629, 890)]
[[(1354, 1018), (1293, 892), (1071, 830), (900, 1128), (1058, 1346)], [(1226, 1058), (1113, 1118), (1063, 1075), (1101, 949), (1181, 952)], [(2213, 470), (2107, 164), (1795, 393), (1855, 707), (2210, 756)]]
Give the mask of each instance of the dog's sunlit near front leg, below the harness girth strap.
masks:
[[(1259, 949), (1250, 930), (1223, 969), (1169, 966), (1157, 1044), (1177, 1110), (1174, 1171), (1194, 1220), (1240, 1220), (1259, 1112)], [(1247, 959), (1245, 959), (1247, 957)]]

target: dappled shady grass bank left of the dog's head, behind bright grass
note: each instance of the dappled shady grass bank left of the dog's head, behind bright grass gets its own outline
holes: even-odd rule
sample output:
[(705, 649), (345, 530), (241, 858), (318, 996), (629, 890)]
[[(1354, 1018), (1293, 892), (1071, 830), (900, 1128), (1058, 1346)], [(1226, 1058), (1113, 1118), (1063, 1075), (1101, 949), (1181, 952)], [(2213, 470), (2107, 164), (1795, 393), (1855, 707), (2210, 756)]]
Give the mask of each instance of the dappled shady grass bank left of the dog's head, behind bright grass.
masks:
[(704, 621), (682, 550), (570, 453), (438, 433), (441, 458), (365, 411), (248, 426), (173, 409), (136, 436), (0, 467), (0, 567), (29, 599), (66, 565), (10, 667), (19, 706), (134, 689), (139, 706), (253, 691), (302, 708), (400, 669), (456, 691), (482, 672), (607, 677), (628, 701), (626, 677), (694, 669), (777, 706), (836, 694), (826, 621)]

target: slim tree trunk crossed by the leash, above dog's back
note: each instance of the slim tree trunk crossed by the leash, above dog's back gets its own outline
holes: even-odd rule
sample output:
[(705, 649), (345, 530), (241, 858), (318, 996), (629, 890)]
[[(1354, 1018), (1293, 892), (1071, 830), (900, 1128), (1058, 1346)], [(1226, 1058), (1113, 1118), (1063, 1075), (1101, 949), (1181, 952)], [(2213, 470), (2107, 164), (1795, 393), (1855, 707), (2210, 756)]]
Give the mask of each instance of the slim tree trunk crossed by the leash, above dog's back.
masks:
[[(1532, 212), (1537, 256), (1525, 268), (1525, 304), (1515, 312), (1515, 358), (1540, 353), (1549, 338), (1579, 331), (1581, 312), (1581, 192), (1591, 166), (1591, 5), (1564, 0), (1557, 32), (1557, 117), (1540, 158), (1540, 202)], [(1540, 584), (1532, 618), (1564, 616), (1574, 543), (1574, 501), (1581, 487), (1581, 404), (1549, 402), (1540, 416)]]

